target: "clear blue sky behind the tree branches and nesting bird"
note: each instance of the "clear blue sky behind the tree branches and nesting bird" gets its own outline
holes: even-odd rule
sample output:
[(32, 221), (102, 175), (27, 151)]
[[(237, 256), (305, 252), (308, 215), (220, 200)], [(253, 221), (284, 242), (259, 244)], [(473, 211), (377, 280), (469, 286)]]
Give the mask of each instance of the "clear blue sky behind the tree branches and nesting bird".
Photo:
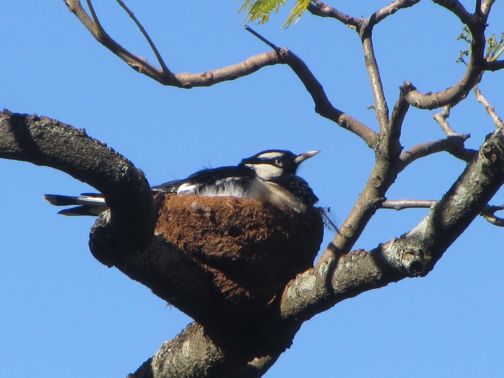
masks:
[[(96, 2), (106, 30), (154, 61), (135, 25), (112, 0)], [(228, 4), (229, 3), (229, 4)], [(336, 3), (336, 2), (335, 2)], [(346, 4), (345, 4), (346, 3)], [(473, 9), (474, 2), (463, 2)], [(504, 30), (496, 2), (489, 30)], [(240, 26), (237, 2), (128, 0), (174, 72), (202, 72), (242, 61), (268, 46)], [(340, 5), (341, 4), (341, 5)], [(354, 16), (385, 1), (335, 5)], [(373, 164), (355, 136), (313, 112), (286, 66), (211, 88), (163, 87), (99, 45), (62, 1), (0, 3), (0, 107), (57, 118), (106, 142), (142, 169), (151, 184), (203, 166), (235, 164), (256, 152), (320, 149), (299, 174), (341, 223)], [(286, 12), (256, 30), (291, 48), (323, 84), (333, 104), (376, 129), (372, 94), (356, 33), (306, 14), (278, 29)], [(374, 30), (389, 108), (409, 80), (423, 92), (451, 86), (466, 46), (457, 18), (431, 2), (398, 12)], [(504, 116), (504, 73), (480, 86)], [(432, 111), (411, 109), (406, 148), (443, 138)], [(474, 96), (449, 121), (478, 148), (494, 130)], [(431, 156), (401, 173), (389, 199), (439, 199), (464, 164)], [(59, 171), (0, 160), (0, 366), (19, 378), (125, 376), (190, 323), (177, 309), (89, 253), (93, 218), (57, 216), (42, 194), (92, 190)], [(504, 203), (502, 191), (492, 204)], [(356, 247), (372, 248), (416, 225), (425, 210), (379, 211)], [(482, 218), (453, 244), (425, 278), (403, 280), (346, 300), (305, 323), (266, 376), (497, 377), (504, 374), (502, 229)], [(324, 245), (330, 240), (326, 232)]]

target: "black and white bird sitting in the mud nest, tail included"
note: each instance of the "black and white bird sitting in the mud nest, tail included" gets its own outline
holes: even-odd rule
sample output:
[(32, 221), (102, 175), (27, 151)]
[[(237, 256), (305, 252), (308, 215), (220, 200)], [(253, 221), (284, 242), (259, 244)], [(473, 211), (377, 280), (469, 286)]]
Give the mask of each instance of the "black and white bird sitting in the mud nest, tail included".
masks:
[[(301, 162), (319, 152), (308, 151), (295, 155), (290, 151), (266, 150), (241, 160), (236, 166), (203, 169), (185, 179), (153, 186), (152, 191), (177, 195), (248, 198), (286, 206), (303, 213), (319, 199), (313, 194), (308, 183), (296, 175), (296, 170)], [(78, 205), (58, 213), (62, 215), (96, 216), (108, 209), (100, 194), (83, 193), (77, 197), (47, 194), (44, 198), (55, 206)]]

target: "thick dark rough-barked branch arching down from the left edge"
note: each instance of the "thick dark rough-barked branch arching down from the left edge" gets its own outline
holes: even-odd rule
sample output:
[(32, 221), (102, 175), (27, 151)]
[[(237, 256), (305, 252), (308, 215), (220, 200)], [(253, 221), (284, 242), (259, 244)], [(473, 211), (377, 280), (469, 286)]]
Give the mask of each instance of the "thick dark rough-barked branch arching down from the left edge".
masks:
[(111, 209), (114, 245), (125, 253), (150, 242), (156, 213), (144, 174), (84, 130), (4, 110), (0, 113), (0, 158), (59, 169), (103, 193)]

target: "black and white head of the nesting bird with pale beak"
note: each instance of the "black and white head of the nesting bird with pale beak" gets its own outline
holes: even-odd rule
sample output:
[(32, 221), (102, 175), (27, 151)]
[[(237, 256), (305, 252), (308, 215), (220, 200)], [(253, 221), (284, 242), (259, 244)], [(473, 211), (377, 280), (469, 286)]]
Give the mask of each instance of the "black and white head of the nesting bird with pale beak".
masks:
[(254, 169), (256, 174), (267, 181), (281, 174), (295, 174), (301, 162), (317, 155), (320, 151), (308, 151), (295, 155), (290, 151), (266, 150), (243, 159), (240, 164)]

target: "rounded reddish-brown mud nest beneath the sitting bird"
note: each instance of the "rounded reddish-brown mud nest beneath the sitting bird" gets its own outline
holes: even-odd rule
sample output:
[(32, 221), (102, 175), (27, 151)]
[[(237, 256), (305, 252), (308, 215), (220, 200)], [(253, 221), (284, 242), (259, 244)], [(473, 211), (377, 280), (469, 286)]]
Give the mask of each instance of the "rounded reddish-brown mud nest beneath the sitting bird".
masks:
[(158, 195), (156, 202), (156, 233), (212, 274), (236, 304), (272, 301), (312, 266), (322, 242), (319, 209), (299, 214), (234, 197)]

